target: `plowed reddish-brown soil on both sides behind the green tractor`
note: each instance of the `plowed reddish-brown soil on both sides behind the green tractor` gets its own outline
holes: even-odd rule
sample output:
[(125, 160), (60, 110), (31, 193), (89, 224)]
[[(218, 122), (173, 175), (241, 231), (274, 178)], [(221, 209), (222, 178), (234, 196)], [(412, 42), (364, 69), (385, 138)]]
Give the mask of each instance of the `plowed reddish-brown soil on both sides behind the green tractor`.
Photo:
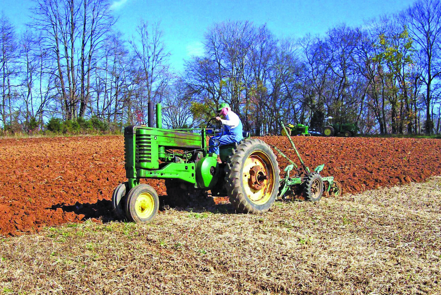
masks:
[[(298, 163), (285, 137), (262, 137)], [(345, 193), (441, 174), (441, 140), (293, 138), (306, 165), (325, 164)], [(110, 220), (113, 189), (125, 180), (122, 136), (0, 140), (0, 234), (20, 235), (87, 218)], [(288, 161), (277, 157), (283, 168)], [(163, 181), (147, 181), (164, 195)], [(411, 196), (410, 196), (411, 197)]]

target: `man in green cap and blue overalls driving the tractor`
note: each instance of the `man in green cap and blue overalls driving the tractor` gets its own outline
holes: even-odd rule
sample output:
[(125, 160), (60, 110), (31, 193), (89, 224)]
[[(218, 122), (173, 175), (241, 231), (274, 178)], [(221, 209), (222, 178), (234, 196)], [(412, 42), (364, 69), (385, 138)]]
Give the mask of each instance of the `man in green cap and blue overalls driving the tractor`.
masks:
[[(221, 135), (213, 136), (209, 139), (209, 153), (219, 154), (219, 146), (229, 143), (240, 142), (243, 139), (243, 127), (239, 116), (233, 112), (227, 103), (222, 103), (217, 108), (218, 116), (216, 119), (221, 121), (224, 131)], [(221, 118), (224, 118), (222, 119)], [(214, 140), (219, 141), (219, 146), (214, 146)]]

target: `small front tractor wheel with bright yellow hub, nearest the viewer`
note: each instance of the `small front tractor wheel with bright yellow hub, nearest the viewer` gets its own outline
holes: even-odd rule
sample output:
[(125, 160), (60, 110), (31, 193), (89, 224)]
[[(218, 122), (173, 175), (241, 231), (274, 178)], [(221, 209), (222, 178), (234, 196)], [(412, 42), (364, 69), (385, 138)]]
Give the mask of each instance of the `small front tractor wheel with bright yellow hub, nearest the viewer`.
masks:
[(138, 184), (127, 194), (126, 215), (135, 222), (151, 222), (158, 212), (159, 198), (148, 184)]

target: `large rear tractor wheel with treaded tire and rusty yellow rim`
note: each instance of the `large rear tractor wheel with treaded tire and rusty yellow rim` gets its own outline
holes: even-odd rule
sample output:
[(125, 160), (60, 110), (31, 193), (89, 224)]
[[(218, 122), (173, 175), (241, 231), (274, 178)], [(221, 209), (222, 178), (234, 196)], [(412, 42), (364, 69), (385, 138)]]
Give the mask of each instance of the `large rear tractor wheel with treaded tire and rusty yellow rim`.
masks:
[(243, 213), (262, 214), (276, 200), (280, 186), (277, 158), (268, 144), (247, 139), (234, 150), (225, 167), (230, 202)]

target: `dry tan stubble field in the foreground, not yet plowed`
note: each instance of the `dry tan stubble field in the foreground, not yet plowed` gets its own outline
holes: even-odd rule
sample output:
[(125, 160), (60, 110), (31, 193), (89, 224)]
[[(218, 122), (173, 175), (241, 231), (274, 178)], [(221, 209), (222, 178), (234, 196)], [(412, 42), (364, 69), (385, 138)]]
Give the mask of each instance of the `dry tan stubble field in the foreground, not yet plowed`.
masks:
[[(225, 207), (226, 208), (226, 207)], [(441, 294), (441, 177), (1, 239), (0, 294)]]

